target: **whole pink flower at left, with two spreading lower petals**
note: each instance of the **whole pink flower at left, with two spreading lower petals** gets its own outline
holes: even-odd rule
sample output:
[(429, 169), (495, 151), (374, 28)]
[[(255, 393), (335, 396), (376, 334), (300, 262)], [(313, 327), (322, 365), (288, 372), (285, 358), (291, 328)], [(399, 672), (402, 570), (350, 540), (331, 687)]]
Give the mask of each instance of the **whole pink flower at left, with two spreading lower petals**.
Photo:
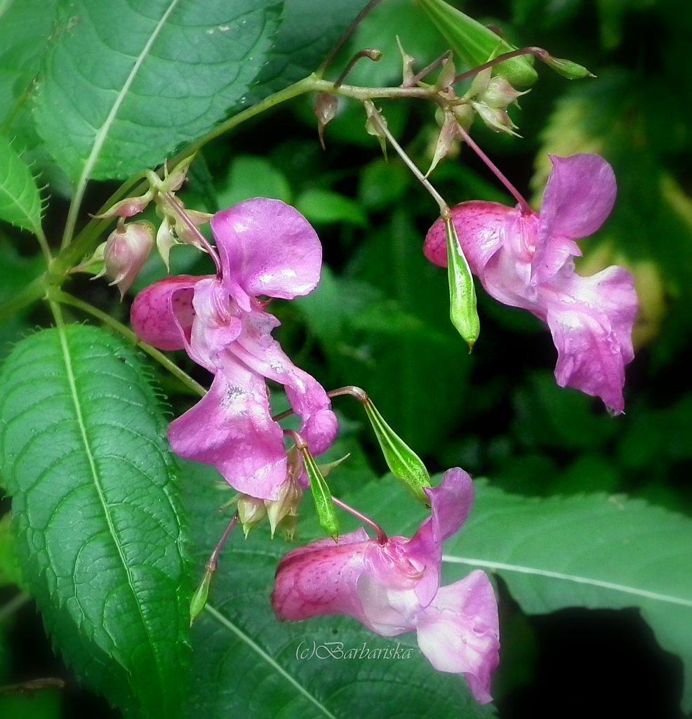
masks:
[(287, 457), (266, 380), (284, 386), (313, 454), (328, 448), (337, 423), (322, 386), (273, 339), (279, 321), (259, 296), (310, 293), (320, 278), (322, 248), (303, 215), (278, 200), (256, 198), (218, 212), (211, 230), (220, 276), (154, 283), (135, 298), (132, 326), (144, 342), (185, 349), (214, 375), (206, 396), (170, 424), (173, 451), (213, 464), (241, 493), (275, 500), (287, 481)]

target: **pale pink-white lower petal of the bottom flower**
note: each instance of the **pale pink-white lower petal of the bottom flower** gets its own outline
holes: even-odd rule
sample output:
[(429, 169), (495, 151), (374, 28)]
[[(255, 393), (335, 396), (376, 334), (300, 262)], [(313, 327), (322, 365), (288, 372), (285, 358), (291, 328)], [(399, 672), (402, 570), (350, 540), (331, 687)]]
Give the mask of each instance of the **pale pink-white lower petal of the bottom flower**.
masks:
[(492, 701), (490, 679), (499, 664), (497, 600), (484, 572), (441, 587), (417, 626), (420, 651), (439, 672), (463, 674), (481, 704)]

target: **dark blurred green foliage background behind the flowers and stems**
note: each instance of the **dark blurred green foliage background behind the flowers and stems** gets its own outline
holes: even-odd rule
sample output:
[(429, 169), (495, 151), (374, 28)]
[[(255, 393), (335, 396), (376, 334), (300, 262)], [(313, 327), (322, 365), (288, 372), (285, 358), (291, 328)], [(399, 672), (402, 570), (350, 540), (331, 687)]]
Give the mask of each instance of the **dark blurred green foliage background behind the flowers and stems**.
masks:
[[(271, 196), (295, 204), (313, 222), (327, 263), (323, 280), (309, 298), (272, 306), (284, 323), (277, 335), (295, 362), (328, 388), (364, 387), (431, 471), (458, 464), (513, 493), (622, 492), (689, 513), (692, 5), (505, 0), (464, 3), (463, 9), (502, 27), (516, 45), (542, 45), (598, 75), (570, 82), (540, 67), (540, 81), (512, 111), (525, 139), (499, 137), (480, 124), (474, 137), (527, 195), (545, 182), (548, 152), (599, 152), (612, 162), (616, 209), (595, 237), (581, 243), (581, 270), (591, 274), (618, 263), (637, 280), (638, 351), (627, 372), (625, 416), (609, 418), (599, 401), (558, 388), (545, 327), (482, 290), (481, 337), (467, 354), (448, 322), (446, 273), (421, 252), (435, 205), (401, 162), (380, 157), (355, 103), (341, 104), (326, 129), (326, 152), (305, 99), (244, 125), (205, 150), (185, 201), (216, 211)], [(384, 58), (377, 65), (363, 61), (349, 81), (400, 82), (395, 34), (419, 67), (446, 49), (409, 1), (385, 0), (350, 49), (377, 47)], [(392, 132), (426, 167), (437, 132), (430, 107), (413, 101), (380, 107)], [(509, 202), (466, 148), (443, 162), (432, 180), (450, 203)], [(92, 189), (86, 206), (96, 206), (108, 189)], [(64, 211), (52, 203), (56, 216)], [(0, 252), (4, 300), (42, 265), (4, 240)], [(203, 271), (194, 266), (194, 252), (177, 248), (174, 255), (174, 271)], [(153, 259), (137, 286), (160, 276), (160, 260)], [(103, 283), (77, 280), (72, 291), (126, 317), (126, 303), (116, 303)], [(0, 328), (0, 339), (11, 342), (49, 321), (36, 308)], [(172, 389), (168, 377), (160, 382)], [(182, 411), (190, 398), (173, 396), (172, 402)], [(362, 423), (348, 401), (338, 409)], [(361, 434), (374, 468), (384, 471), (369, 433)], [(681, 664), (658, 648), (637, 612), (563, 610), (527, 618), (500, 589), (504, 655), (495, 693), (502, 717), (553, 716), (566, 702), (592, 716), (679, 715)], [(48, 676), (65, 677), (65, 669), (27, 605), (0, 635), (0, 684)], [(34, 708), (41, 718), (111, 715), (103, 700), (71, 681), (62, 698), (44, 694)]]

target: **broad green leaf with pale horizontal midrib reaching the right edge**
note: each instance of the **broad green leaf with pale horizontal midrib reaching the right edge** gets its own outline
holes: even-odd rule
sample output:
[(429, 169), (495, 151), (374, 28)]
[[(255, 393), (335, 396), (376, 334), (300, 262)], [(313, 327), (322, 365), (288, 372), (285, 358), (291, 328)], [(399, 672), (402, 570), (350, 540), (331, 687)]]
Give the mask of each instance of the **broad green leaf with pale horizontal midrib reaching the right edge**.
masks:
[[(407, 534), (420, 521), (389, 480), (349, 501), (389, 531)], [(527, 613), (639, 608), (663, 649), (683, 659), (689, 707), (691, 546), (690, 519), (624, 495), (527, 498), (476, 482), (469, 521), (444, 560), (451, 580), (476, 568), (499, 574)]]

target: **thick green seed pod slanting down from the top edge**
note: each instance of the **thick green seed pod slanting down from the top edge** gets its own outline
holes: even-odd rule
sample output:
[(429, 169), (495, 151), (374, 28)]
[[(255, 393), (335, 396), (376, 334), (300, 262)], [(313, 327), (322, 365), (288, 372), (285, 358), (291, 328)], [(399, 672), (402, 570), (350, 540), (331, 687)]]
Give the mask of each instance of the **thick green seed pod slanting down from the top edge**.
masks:
[[(449, 46), (470, 68), (488, 62), (504, 52), (517, 47), (496, 35), (472, 17), (463, 14), (443, 0), (418, 0), (435, 27), (449, 43)], [(521, 56), (506, 60), (495, 68), (494, 73), (502, 75), (515, 86), (529, 87), (538, 80), (532, 59)]]

